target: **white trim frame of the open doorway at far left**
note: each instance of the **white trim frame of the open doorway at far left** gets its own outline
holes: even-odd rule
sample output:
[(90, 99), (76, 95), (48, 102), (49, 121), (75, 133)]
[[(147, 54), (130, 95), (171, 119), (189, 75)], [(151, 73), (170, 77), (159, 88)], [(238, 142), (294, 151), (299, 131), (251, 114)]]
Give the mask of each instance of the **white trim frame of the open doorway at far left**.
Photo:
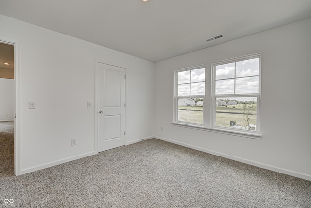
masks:
[(0, 36), (0, 42), (14, 46), (14, 87), (15, 87), (15, 118), (14, 118), (14, 174), (20, 175), (20, 101), (21, 101), (21, 68), (20, 42)]

